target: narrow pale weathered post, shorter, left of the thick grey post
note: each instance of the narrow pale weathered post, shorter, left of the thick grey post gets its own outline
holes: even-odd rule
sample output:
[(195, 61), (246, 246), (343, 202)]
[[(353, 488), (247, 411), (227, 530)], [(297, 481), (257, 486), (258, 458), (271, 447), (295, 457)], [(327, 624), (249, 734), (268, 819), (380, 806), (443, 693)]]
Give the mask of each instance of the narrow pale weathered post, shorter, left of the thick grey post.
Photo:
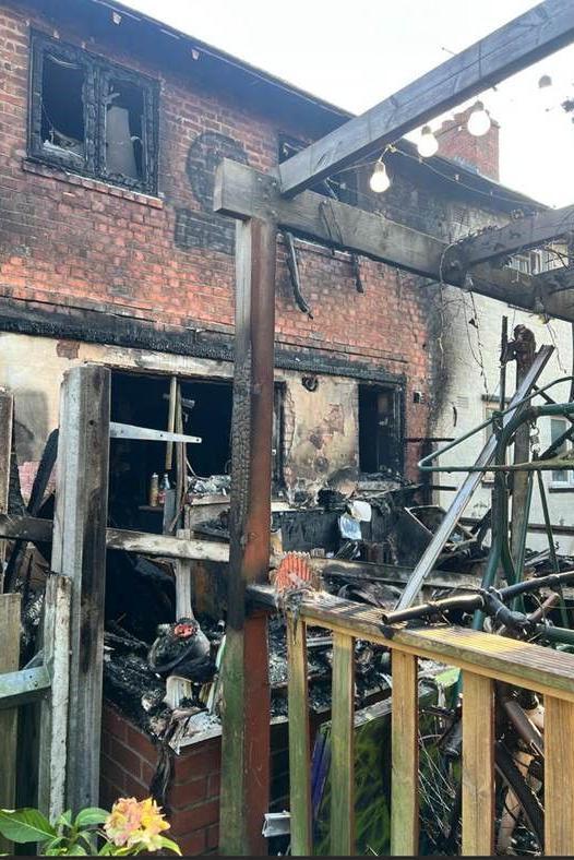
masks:
[(38, 808), (53, 821), (64, 811), (70, 689), (72, 581), (51, 575), (44, 601), (44, 665), (50, 691), (40, 705)]

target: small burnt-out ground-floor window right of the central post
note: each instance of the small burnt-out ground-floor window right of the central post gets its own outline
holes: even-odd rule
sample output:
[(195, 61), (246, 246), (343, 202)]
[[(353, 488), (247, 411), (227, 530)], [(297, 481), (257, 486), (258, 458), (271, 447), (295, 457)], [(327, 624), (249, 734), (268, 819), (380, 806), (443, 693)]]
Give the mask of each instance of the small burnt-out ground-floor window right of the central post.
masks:
[(403, 473), (399, 389), (359, 385), (359, 468), (363, 474)]

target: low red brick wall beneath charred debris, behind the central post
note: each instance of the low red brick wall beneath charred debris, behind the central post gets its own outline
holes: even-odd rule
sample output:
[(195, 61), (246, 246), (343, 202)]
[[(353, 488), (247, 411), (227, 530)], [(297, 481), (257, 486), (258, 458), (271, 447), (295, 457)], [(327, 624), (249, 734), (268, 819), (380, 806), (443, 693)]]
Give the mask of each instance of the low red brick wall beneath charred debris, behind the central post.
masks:
[[(100, 803), (109, 809), (119, 797), (150, 795), (159, 746), (112, 705), (101, 720)], [(184, 856), (216, 853), (219, 843), (222, 739), (186, 746), (174, 760), (167, 792), (169, 837)], [(285, 724), (272, 727), (272, 810), (288, 807), (288, 743)]]

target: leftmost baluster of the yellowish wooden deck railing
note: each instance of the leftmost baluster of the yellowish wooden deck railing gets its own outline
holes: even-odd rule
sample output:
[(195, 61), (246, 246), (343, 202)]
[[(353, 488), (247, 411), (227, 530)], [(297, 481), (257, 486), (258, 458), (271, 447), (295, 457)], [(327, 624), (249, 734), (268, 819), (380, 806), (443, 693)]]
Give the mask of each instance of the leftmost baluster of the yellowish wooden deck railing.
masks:
[(287, 623), (289, 667), (289, 785), (291, 800), (291, 855), (313, 853), (311, 815), (311, 739), (307, 682), (307, 624)]

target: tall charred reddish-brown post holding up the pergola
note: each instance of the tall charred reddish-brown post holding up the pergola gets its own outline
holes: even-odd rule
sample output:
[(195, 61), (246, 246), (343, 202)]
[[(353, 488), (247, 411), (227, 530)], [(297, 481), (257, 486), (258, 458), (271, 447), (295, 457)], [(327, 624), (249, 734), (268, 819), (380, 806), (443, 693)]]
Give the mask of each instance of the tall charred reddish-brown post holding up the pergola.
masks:
[(270, 792), (267, 624), (246, 618), (246, 587), (268, 574), (276, 226), (236, 232), (235, 378), (219, 849), (264, 855)]

